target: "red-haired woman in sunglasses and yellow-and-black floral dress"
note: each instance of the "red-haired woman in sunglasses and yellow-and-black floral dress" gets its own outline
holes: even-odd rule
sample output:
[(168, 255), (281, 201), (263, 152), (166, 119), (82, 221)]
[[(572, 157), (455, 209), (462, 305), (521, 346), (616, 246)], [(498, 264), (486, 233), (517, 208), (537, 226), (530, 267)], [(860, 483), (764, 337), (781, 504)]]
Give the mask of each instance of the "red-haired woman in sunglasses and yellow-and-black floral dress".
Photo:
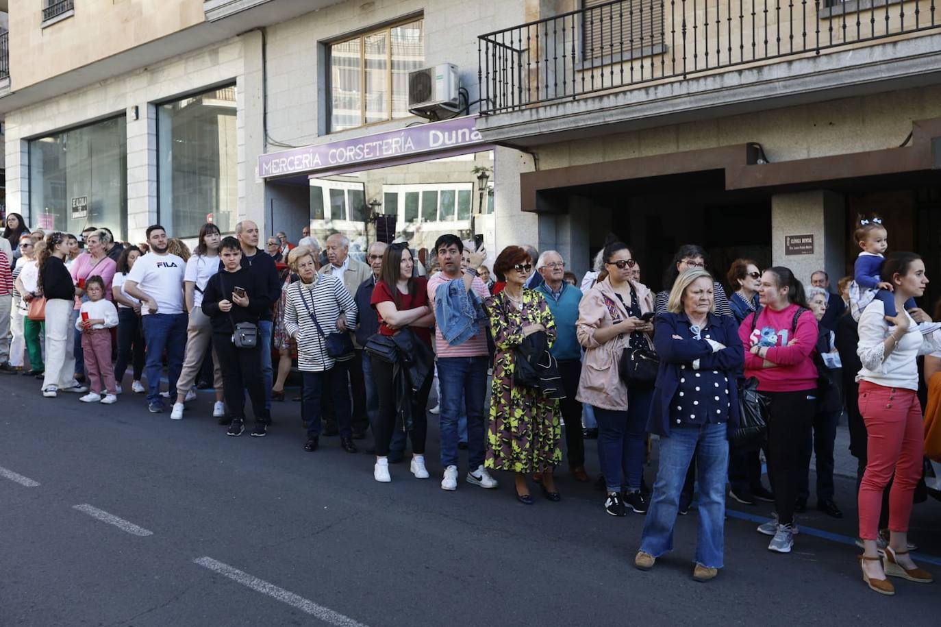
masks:
[[(519, 385), (518, 347), (534, 333), (545, 333), (547, 348), (555, 342), (555, 319), (542, 294), (523, 286), (533, 271), (534, 259), (525, 249), (508, 246), (493, 264), (506, 278), (506, 287), (486, 299), (497, 352), (493, 359), (490, 419), (486, 437), (486, 468), (516, 473), (517, 500), (532, 505), (526, 475), (542, 473), (542, 493), (559, 501), (552, 471), (562, 461), (559, 440), (559, 401), (539, 388)], [(538, 338), (534, 338), (537, 340)]]

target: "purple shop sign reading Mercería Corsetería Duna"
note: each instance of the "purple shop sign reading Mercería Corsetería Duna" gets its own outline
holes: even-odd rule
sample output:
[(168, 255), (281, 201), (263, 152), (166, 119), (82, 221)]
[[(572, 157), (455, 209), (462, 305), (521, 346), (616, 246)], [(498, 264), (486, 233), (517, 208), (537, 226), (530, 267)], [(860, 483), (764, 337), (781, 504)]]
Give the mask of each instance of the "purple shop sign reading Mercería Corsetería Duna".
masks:
[(398, 131), (305, 146), (258, 157), (262, 178), (311, 173), (423, 153), (438, 153), (484, 143), (474, 125), (476, 116), (430, 122)]

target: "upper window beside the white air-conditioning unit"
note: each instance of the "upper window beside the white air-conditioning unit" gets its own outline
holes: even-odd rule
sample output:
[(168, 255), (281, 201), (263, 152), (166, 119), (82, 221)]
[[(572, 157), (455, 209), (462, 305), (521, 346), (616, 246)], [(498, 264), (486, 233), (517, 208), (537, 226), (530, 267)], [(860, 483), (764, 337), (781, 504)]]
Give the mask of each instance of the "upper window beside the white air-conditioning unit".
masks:
[(408, 116), (408, 72), (424, 65), (423, 21), (330, 44), (330, 130)]

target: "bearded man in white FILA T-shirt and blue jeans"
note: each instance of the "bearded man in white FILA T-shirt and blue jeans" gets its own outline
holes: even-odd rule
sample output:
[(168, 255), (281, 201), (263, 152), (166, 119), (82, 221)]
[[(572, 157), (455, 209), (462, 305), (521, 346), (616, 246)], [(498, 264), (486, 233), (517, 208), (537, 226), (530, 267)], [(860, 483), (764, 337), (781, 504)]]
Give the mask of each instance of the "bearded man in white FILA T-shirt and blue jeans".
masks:
[(167, 251), (167, 231), (159, 224), (147, 228), (147, 243), (151, 251), (137, 259), (124, 282), (124, 291), (141, 303), (141, 323), (147, 341), (144, 372), (147, 375), (148, 410), (163, 413), (160, 375), (165, 349), (170, 398), (176, 398), (177, 379), (183, 369), (188, 322), (183, 310), (186, 263)]

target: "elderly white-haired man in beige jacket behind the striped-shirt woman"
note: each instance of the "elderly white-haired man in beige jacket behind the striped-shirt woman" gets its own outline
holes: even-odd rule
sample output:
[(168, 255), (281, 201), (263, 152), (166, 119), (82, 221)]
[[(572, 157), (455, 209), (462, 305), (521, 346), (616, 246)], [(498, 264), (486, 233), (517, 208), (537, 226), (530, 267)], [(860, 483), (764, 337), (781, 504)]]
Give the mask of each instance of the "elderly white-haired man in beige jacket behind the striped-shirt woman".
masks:
[[(350, 296), (353, 296), (357, 293), (359, 285), (373, 276), (373, 270), (369, 265), (350, 257), (349, 251), (350, 240), (343, 233), (333, 233), (327, 237), (327, 261), (329, 263), (320, 268), (320, 274), (338, 277), (343, 281)], [(339, 325), (343, 326), (343, 316), (340, 317)], [(362, 346), (353, 335), (353, 330), (347, 331), (350, 332), (356, 350), (349, 357), (338, 359), (334, 368), (343, 369), (348, 373), (350, 385), (353, 388), (353, 439), (362, 440), (366, 437), (366, 429), (369, 428), (365, 402), (366, 384), (362, 375)], [(324, 435), (332, 435), (335, 430), (336, 426), (332, 424), (332, 421), (328, 421), (324, 428)]]

